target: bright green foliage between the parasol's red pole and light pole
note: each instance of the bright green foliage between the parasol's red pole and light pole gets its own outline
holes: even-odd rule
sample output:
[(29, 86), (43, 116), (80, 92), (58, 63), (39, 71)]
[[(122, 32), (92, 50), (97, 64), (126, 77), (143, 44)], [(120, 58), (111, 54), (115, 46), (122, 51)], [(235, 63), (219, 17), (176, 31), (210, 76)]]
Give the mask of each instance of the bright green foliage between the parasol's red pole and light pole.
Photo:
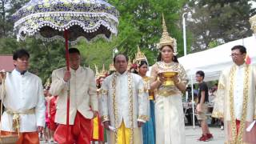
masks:
[[(121, 53), (134, 58), (138, 45), (146, 54), (150, 65), (154, 64), (158, 54), (156, 43), (159, 42), (162, 35), (162, 14), (165, 15), (170, 35), (178, 40), (179, 54), (183, 54), (180, 12), (186, 0), (109, 0), (108, 2), (116, 6), (120, 12), (118, 36), (114, 38), (113, 42), (99, 41), (101, 44), (97, 42), (84, 46), (84, 50), (87, 51), (86, 59), (98, 59), (99, 62), (106, 62), (105, 64), (108, 66), (109, 62), (112, 62), (112, 50), (115, 47)], [(108, 55), (99, 55), (98, 47), (102, 47), (103, 54)], [(94, 57), (94, 53), (97, 57)], [(108, 58), (107, 61), (106, 58)]]

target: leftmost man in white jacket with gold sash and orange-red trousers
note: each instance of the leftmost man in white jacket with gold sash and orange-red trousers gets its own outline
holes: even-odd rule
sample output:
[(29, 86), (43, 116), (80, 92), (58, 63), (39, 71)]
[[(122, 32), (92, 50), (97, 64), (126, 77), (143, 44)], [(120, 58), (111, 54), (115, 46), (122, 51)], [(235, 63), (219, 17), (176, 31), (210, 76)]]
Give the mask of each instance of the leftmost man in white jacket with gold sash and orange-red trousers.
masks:
[(7, 74), (2, 72), (0, 78), (0, 94), (6, 107), (2, 114), (1, 134), (19, 132), (18, 144), (39, 144), (38, 132), (45, 126), (42, 81), (27, 71), (29, 58), (26, 50), (14, 52), (15, 69)]

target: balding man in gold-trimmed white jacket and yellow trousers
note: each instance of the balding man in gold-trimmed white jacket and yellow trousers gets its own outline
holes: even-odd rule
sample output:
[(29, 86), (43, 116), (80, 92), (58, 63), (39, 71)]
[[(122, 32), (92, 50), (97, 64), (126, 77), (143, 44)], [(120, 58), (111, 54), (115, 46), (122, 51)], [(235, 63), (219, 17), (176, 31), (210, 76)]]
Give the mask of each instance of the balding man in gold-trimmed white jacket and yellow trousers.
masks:
[(109, 144), (141, 144), (142, 125), (148, 120), (148, 94), (138, 74), (127, 71), (128, 58), (114, 57), (117, 70), (107, 77), (100, 91), (100, 113)]

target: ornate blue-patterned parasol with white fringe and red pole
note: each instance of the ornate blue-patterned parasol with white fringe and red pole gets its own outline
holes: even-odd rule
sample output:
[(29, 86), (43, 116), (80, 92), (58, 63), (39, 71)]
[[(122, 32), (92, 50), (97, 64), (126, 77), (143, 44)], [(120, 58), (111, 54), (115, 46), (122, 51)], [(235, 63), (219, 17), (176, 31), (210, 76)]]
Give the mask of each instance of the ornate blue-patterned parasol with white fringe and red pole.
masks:
[[(45, 42), (65, 40), (67, 70), (70, 70), (69, 43), (74, 44), (80, 38), (88, 42), (95, 38), (110, 39), (118, 33), (118, 10), (103, 0), (31, 0), (13, 17), (18, 40), (30, 36)], [(69, 108), (68, 94), (67, 126)]]

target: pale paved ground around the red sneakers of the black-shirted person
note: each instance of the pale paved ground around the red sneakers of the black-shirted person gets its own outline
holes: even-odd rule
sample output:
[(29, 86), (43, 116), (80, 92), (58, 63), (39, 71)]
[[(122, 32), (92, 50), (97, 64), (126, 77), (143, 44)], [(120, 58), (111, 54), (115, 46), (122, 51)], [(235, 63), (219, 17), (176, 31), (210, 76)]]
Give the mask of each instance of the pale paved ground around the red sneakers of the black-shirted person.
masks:
[[(214, 139), (209, 142), (198, 142), (197, 139), (201, 136), (202, 131), (199, 126), (186, 126), (186, 144), (222, 144), (224, 143), (224, 131), (220, 130), (219, 127), (210, 127), (210, 133), (214, 135)], [(40, 142), (42, 144), (46, 142)], [(47, 144), (53, 144), (48, 142)]]

